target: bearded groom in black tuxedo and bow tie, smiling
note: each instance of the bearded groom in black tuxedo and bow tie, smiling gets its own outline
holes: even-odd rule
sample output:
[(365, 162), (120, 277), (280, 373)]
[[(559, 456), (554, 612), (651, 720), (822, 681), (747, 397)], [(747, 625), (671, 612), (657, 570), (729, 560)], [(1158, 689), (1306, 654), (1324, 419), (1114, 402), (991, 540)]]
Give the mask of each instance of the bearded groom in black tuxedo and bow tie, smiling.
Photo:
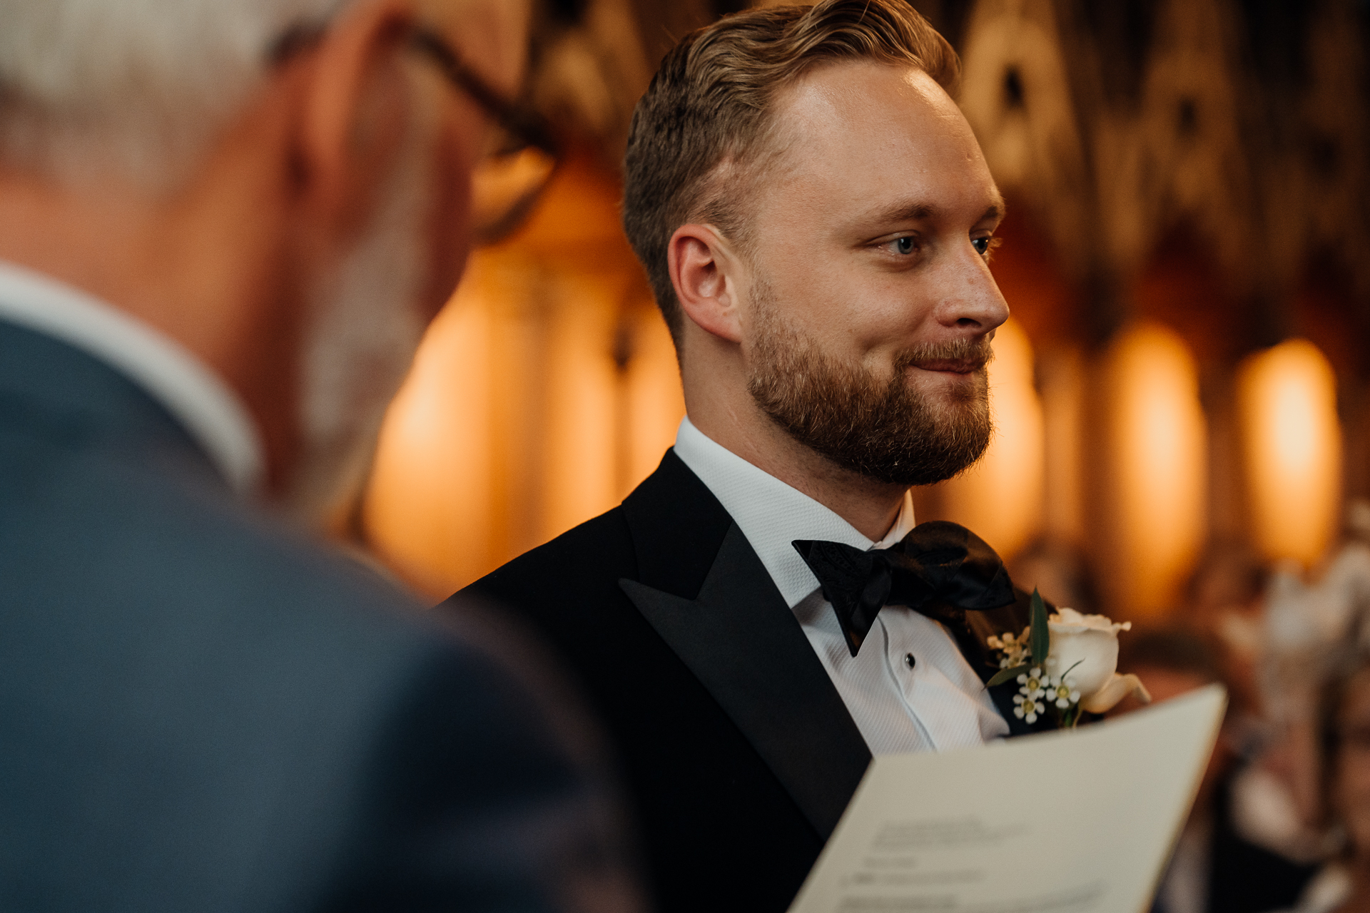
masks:
[(619, 508), (467, 590), (585, 683), (666, 910), (784, 910), (873, 753), (1022, 728), (985, 636), (1023, 602), (908, 494), (984, 452), (1008, 316), (958, 66), (901, 0), (743, 12), (666, 56), (623, 226), (688, 417)]

